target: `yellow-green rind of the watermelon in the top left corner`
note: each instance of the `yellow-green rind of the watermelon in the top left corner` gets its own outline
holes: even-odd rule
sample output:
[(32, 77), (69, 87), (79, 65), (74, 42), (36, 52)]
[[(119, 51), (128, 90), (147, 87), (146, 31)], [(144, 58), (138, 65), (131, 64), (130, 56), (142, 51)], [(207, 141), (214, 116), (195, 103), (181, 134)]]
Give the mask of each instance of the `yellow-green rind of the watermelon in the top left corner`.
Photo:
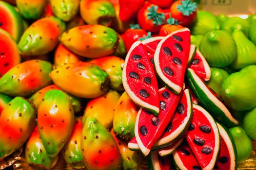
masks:
[(12, 20), (11, 35), (16, 42), (19, 42), (21, 35), (23, 34), (23, 22), (21, 15), (15, 10), (15, 8), (7, 2), (0, 1), (0, 9), (5, 9), (9, 12), (8, 15)]

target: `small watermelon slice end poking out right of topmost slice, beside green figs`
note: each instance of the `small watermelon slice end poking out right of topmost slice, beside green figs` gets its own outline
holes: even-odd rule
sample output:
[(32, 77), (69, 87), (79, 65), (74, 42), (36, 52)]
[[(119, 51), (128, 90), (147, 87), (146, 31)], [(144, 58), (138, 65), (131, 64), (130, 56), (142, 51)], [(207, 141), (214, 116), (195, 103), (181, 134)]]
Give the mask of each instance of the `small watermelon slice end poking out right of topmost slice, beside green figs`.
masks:
[(189, 68), (193, 69), (197, 74), (197, 76), (203, 79), (204, 81), (210, 80), (211, 78), (210, 66), (208, 65), (202, 53), (198, 49)]

